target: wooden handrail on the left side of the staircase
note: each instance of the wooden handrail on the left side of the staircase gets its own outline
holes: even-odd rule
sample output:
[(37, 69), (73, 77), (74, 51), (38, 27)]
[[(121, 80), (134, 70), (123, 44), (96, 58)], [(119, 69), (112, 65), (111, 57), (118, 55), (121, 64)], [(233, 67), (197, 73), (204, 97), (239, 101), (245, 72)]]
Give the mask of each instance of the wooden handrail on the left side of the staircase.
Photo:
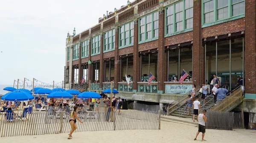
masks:
[[(200, 88), (201, 85), (195, 87), (196, 96), (199, 94)], [(186, 98), (191, 93), (191, 91), (192, 90), (190, 90), (188, 93), (182, 95), (180, 98), (178, 98), (177, 100), (173, 101), (171, 104), (168, 105), (168, 107), (166, 108), (168, 115), (172, 114), (172, 112), (174, 112), (179, 106), (182, 106), (186, 103)]]

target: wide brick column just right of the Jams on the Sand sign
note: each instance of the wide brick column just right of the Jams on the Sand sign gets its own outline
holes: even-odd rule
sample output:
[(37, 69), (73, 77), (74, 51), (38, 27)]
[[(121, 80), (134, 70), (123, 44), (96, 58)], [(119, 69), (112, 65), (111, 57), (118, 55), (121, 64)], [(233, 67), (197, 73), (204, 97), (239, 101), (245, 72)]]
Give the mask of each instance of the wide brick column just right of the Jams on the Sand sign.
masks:
[(204, 47), (202, 46), (201, 31), (201, 0), (194, 1), (193, 8), (193, 52), (192, 77), (196, 86), (204, 82)]

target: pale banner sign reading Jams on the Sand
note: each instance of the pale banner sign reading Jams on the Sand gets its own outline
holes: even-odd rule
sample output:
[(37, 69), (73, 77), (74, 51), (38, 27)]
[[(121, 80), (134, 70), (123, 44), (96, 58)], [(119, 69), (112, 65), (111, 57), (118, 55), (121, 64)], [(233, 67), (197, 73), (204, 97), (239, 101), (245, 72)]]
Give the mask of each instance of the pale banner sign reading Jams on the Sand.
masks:
[(192, 90), (192, 85), (173, 85), (166, 84), (165, 85), (165, 93), (166, 94), (186, 94), (190, 90)]

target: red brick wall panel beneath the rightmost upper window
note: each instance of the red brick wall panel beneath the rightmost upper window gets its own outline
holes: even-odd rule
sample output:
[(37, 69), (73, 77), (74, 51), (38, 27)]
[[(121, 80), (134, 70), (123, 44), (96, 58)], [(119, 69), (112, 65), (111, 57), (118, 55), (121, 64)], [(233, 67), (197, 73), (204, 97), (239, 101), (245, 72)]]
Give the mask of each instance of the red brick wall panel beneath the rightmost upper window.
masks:
[(238, 20), (202, 28), (203, 38), (244, 31), (244, 20), (245, 18), (240, 18)]

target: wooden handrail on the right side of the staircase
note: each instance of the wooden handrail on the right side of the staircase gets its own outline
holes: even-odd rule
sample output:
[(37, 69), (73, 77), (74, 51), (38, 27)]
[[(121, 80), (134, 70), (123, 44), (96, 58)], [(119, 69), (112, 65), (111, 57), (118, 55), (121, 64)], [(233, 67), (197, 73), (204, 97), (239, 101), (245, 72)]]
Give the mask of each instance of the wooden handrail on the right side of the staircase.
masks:
[(214, 104), (211, 104), (209, 107), (207, 107), (208, 110), (212, 110), (212, 111), (224, 111), (225, 109), (227, 109), (227, 107), (230, 107), (234, 102), (236, 102), (237, 100), (239, 100), (239, 98), (241, 98), (242, 95), (242, 88), (241, 86), (236, 87), (236, 89), (234, 89), (231, 93), (227, 94), (226, 96), (224, 96), (223, 98), (221, 98), (221, 100), (217, 101), (215, 104), (217, 104), (217, 106), (214, 106)]

